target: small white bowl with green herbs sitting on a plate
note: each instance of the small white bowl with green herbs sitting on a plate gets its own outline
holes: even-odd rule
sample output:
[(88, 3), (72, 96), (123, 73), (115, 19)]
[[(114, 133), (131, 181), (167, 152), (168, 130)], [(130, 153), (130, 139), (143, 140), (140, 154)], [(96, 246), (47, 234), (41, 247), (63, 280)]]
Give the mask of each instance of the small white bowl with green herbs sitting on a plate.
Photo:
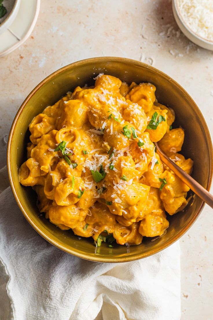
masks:
[(0, 33), (10, 27), (15, 19), (21, 0), (0, 0)]

